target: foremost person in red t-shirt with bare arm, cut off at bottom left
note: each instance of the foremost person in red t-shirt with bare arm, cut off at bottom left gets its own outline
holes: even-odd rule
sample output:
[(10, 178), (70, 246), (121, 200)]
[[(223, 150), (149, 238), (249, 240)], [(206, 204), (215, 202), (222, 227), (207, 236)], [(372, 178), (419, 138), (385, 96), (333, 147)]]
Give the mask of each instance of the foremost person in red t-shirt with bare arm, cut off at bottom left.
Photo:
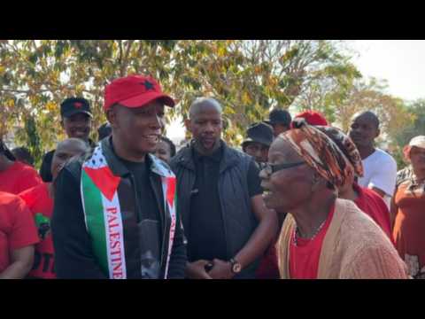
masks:
[(37, 230), (24, 201), (0, 191), (0, 279), (27, 276), (36, 243)]

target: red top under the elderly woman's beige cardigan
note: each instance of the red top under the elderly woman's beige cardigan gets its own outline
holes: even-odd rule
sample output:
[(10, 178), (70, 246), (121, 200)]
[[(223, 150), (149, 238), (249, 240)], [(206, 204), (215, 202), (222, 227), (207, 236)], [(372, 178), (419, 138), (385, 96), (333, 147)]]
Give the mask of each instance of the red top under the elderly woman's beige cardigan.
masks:
[(321, 257), (321, 245), (328, 231), (330, 221), (334, 216), (335, 205), (332, 206), (328, 218), (313, 239), (297, 237), (295, 245), (295, 230), (290, 241), (290, 278), (292, 279), (317, 279), (319, 259)]

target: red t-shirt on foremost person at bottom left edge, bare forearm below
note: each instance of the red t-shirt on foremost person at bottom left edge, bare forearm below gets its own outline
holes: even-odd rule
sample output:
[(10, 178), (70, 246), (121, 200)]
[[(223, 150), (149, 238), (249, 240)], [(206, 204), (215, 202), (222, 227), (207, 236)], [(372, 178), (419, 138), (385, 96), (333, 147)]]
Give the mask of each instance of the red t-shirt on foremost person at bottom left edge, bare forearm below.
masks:
[(34, 219), (25, 202), (0, 191), (0, 273), (10, 266), (13, 250), (38, 241)]

